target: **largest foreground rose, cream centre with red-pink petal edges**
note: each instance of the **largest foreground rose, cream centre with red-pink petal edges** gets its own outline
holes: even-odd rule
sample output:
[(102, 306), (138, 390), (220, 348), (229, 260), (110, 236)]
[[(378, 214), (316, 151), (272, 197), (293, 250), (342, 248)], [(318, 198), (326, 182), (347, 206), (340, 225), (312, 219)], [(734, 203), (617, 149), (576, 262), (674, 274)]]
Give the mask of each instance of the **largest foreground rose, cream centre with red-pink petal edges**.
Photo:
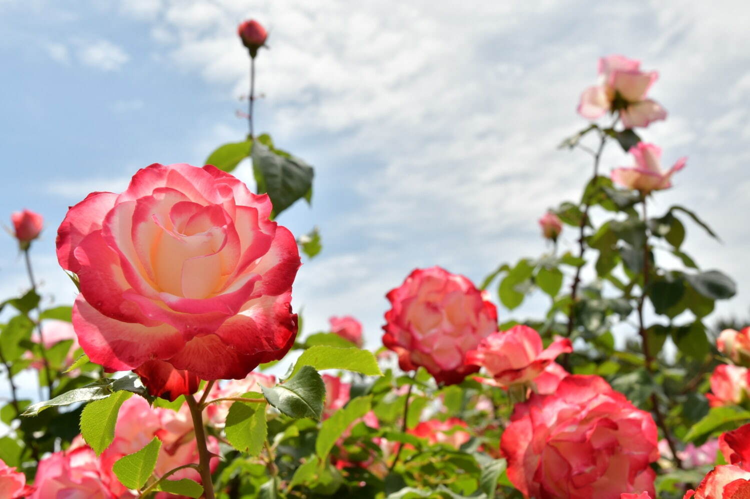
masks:
[(72, 207), (57, 255), (80, 279), (73, 324), (86, 354), (169, 399), (284, 357), (300, 260), (271, 208), (232, 175), (186, 164), (148, 166), (123, 193)]

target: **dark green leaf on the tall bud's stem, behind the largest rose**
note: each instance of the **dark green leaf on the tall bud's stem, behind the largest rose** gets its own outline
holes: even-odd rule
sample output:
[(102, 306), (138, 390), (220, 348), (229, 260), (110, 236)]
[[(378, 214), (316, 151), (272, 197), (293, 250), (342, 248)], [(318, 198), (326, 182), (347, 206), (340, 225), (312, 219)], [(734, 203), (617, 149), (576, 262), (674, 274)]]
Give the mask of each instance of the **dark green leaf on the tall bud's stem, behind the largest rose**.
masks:
[(263, 142), (270, 141), (259, 137), (253, 145), (253, 172), (258, 193), (268, 193), (276, 217), (298, 199), (308, 197), (314, 172), (308, 163)]

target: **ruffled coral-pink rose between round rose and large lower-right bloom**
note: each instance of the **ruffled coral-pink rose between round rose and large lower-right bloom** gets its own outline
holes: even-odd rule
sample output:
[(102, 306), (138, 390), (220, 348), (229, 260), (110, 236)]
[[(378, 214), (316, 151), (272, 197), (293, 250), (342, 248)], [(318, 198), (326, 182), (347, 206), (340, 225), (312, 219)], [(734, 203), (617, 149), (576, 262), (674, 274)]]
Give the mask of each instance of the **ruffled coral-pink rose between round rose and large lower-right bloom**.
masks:
[[(484, 367), (493, 378), (477, 378), (477, 381), (508, 388), (532, 383), (559, 354), (571, 351), (570, 340), (562, 337), (544, 349), (539, 333), (531, 327), (519, 325), (482, 339), (476, 350), (466, 353), (466, 363)], [(555, 376), (559, 372), (550, 374)]]

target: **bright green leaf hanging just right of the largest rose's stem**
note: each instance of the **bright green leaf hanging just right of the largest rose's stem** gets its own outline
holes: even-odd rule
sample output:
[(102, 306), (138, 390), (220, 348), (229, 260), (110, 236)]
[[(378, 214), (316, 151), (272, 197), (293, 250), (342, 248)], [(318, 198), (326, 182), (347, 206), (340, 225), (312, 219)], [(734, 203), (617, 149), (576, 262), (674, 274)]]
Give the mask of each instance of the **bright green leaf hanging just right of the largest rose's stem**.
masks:
[[(260, 396), (260, 393), (246, 393), (244, 396)], [(236, 450), (259, 456), (266, 444), (268, 427), (266, 426), (266, 404), (235, 402), (226, 415), (226, 440)]]

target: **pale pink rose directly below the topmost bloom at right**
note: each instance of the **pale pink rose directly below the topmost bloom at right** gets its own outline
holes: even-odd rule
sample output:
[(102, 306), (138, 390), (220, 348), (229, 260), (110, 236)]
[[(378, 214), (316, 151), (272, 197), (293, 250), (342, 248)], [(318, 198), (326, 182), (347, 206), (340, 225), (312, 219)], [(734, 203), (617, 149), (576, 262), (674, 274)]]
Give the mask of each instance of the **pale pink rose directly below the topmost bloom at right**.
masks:
[(627, 189), (640, 190), (648, 194), (652, 190), (672, 187), (672, 175), (685, 168), (688, 158), (681, 157), (664, 172), (661, 169), (661, 148), (646, 142), (638, 142), (628, 151), (633, 155), (635, 166), (621, 166), (612, 170), (612, 181)]

